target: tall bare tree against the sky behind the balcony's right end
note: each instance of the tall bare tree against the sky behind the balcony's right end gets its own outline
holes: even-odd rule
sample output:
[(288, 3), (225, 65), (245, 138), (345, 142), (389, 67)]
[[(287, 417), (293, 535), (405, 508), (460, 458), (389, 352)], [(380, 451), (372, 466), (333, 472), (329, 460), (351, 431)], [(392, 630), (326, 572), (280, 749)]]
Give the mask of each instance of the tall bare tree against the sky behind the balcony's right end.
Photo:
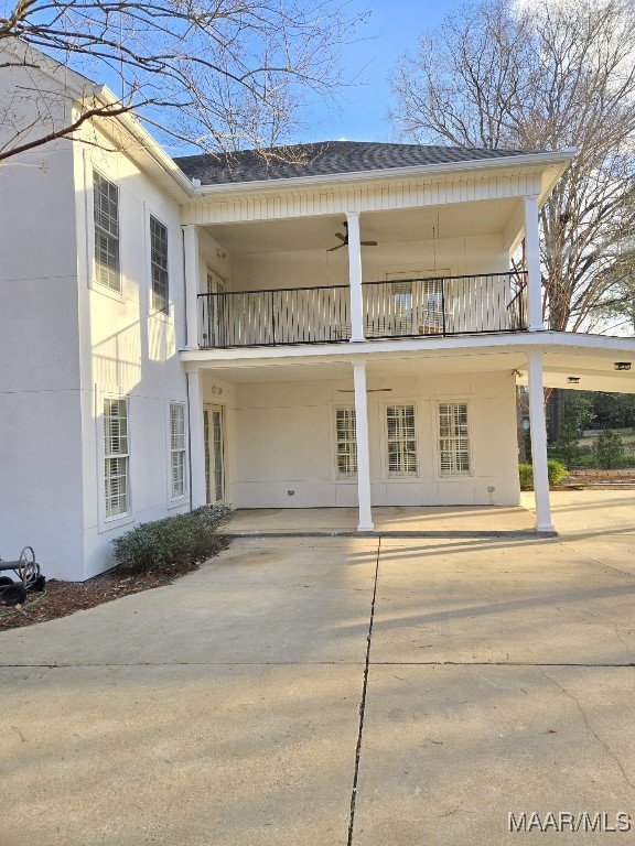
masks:
[(403, 139), (578, 154), (541, 212), (543, 311), (593, 330), (632, 268), (633, 0), (484, 0), (424, 34), (392, 75)]

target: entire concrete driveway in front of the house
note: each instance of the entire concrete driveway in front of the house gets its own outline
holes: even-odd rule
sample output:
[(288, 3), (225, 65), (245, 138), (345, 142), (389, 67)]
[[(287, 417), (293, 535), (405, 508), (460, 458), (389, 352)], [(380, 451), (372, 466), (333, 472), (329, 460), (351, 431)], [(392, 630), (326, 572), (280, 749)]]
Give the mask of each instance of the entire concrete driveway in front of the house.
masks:
[(633, 843), (635, 491), (553, 500), (556, 540), (240, 539), (0, 634), (1, 846)]

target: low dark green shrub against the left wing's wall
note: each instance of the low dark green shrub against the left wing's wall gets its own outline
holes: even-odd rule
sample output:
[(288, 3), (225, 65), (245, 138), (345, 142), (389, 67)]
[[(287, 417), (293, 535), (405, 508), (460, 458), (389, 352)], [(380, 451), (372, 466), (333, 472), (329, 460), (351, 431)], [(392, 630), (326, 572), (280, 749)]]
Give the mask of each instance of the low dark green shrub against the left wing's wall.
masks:
[(127, 573), (204, 561), (218, 551), (217, 530), (230, 517), (228, 506), (203, 506), (185, 514), (139, 523), (115, 538), (115, 558)]

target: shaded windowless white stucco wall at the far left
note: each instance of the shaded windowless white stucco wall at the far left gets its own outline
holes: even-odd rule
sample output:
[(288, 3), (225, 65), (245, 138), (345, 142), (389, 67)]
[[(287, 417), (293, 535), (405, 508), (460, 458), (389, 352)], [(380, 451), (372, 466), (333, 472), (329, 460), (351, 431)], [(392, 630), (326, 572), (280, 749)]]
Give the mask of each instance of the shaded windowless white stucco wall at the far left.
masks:
[(83, 552), (74, 213), (67, 141), (0, 165), (0, 556), (30, 544), (63, 578)]

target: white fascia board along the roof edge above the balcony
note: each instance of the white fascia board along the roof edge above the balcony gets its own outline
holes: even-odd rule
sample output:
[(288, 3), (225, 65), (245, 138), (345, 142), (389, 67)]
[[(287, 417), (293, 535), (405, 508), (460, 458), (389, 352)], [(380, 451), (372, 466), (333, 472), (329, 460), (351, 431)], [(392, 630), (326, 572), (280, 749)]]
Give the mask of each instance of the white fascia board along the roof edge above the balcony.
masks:
[[(418, 164), (408, 167), (386, 167), (374, 171), (354, 171), (351, 173), (333, 173), (322, 176), (292, 176), (284, 180), (258, 180), (254, 182), (228, 182), (222, 185), (202, 185), (194, 189), (194, 196), (207, 194), (235, 194), (250, 191), (277, 191), (280, 188), (312, 187), (320, 185), (333, 185), (349, 182), (377, 182), (378, 180), (407, 178), (413, 176), (428, 176), (451, 174), (471, 171), (499, 170), (502, 167), (547, 166), (562, 164), (562, 173), (575, 155), (575, 150), (562, 150), (560, 152), (527, 153), (524, 155), (498, 156), (496, 159), (470, 159), (462, 162), (444, 162), (441, 164)], [(560, 174), (558, 174), (559, 177)], [(553, 181), (556, 182), (556, 180)]]

